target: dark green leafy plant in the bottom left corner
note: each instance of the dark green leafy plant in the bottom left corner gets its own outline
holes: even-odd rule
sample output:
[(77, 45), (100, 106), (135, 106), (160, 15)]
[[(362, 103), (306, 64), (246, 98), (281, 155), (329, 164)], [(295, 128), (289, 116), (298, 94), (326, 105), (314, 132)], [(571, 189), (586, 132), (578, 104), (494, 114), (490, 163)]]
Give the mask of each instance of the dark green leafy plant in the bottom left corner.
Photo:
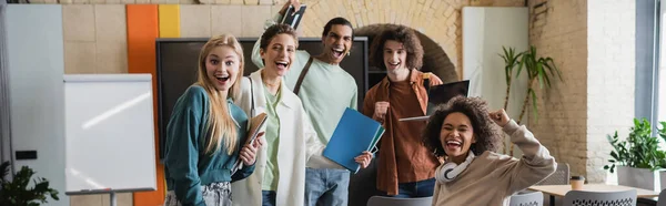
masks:
[(0, 205), (17, 205), (17, 206), (38, 206), (40, 203), (48, 203), (47, 195), (58, 200), (58, 190), (49, 187), (49, 181), (43, 177), (33, 179), (34, 186), (28, 188), (28, 184), (36, 174), (28, 166), (21, 167), (13, 175), (12, 181), (8, 179), (9, 167), (11, 164), (4, 162), (0, 165)]

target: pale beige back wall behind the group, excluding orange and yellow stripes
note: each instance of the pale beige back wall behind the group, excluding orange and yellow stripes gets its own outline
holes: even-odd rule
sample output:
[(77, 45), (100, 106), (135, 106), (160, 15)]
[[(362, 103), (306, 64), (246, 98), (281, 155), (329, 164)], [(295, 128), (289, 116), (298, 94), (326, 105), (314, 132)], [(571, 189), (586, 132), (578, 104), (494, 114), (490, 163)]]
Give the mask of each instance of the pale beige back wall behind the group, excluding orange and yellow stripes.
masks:
[[(62, 3), (69, 31), (83, 31), (72, 41), (65, 37), (65, 68), (74, 73), (115, 73), (127, 71), (127, 42), (122, 32), (112, 32), (103, 42), (94, 33), (101, 33), (102, 20), (119, 27), (123, 24), (123, 4), (129, 3), (181, 3), (181, 35), (210, 37), (231, 32), (239, 37), (259, 37), (262, 22), (276, 13), (285, 0), (32, 0), (32, 3)], [(430, 37), (456, 66), (462, 76), (462, 18), (461, 9), (474, 7), (522, 7), (523, 0), (301, 0), (309, 6), (307, 18), (300, 27), (302, 37), (320, 37), (322, 25), (334, 17), (347, 18), (355, 28), (376, 23), (406, 24)], [(210, 3), (210, 4), (198, 4)], [(108, 4), (100, 7), (101, 4)], [(239, 19), (216, 18), (223, 13), (236, 13)], [(101, 22), (103, 23), (103, 22)], [(75, 25), (75, 28), (73, 27)], [(220, 27), (225, 25), (225, 27)], [(92, 35), (90, 35), (92, 33)], [(85, 37), (83, 37), (85, 35)], [(102, 34), (103, 35), (103, 34)], [(113, 37), (118, 37), (115, 40)], [(74, 42), (75, 41), (75, 42)], [(111, 43), (112, 41), (113, 43)], [(118, 43), (115, 43), (118, 42)], [(110, 47), (107, 47), (110, 45)], [(67, 58), (69, 56), (69, 58)], [(79, 58), (84, 56), (79, 60)], [(112, 63), (101, 61), (113, 61)], [(93, 65), (103, 69), (90, 69)], [(112, 66), (113, 65), (113, 66)], [(94, 71), (91, 71), (94, 70)]]

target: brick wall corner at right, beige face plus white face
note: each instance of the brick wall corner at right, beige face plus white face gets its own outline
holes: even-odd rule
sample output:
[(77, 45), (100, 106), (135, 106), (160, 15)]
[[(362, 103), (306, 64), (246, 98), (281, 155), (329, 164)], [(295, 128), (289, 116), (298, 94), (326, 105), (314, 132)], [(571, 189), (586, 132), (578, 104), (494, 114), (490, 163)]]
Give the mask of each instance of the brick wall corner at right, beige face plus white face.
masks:
[(606, 181), (606, 134), (626, 135), (634, 116), (635, 2), (533, 0), (529, 42), (552, 56), (563, 74), (537, 92), (537, 138), (573, 175)]

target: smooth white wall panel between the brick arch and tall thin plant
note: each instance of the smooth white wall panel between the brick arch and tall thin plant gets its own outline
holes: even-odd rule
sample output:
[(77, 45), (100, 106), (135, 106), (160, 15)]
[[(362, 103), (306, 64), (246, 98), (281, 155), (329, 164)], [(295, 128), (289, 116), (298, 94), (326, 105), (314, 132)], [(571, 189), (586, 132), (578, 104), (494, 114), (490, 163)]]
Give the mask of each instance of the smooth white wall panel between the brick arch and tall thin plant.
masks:
[[(515, 48), (516, 52), (528, 49), (527, 21), (527, 8), (463, 8), (463, 79), (471, 80), (470, 95), (482, 96), (490, 110), (502, 109), (506, 96), (505, 64), (498, 54), (503, 54), (503, 45)], [(527, 85), (525, 73), (521, 76), (515, 80), (514, 73), (506, 110), (516, 120)], [(527, 120), (526, 116), (523, 120)], [(506, 141), (508, 146), (508, 138)], [(519, 155), (521, 151), (515, 147), (514, 156)]]

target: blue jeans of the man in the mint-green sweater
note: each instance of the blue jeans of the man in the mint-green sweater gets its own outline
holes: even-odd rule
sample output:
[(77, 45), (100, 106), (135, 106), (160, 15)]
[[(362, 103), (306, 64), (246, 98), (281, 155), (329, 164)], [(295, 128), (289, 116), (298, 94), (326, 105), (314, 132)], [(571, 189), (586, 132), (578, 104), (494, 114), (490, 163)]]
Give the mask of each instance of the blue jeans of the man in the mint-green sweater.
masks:
[(346, 206), (350, 171), (306, 168), (305, 206)]

